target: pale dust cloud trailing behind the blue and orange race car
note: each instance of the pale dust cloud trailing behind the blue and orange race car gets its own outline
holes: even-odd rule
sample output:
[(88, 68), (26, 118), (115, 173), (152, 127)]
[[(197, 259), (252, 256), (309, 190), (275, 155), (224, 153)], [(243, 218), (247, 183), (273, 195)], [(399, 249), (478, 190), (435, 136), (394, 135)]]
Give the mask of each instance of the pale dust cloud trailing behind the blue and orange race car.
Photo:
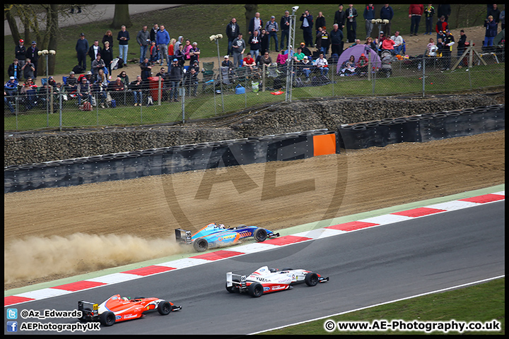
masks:
[(28, 237), (5, 245), (4, 284), (50, 275), (71, 276), (183, 251), (175, 239), (143, 239), (129, 234)]

